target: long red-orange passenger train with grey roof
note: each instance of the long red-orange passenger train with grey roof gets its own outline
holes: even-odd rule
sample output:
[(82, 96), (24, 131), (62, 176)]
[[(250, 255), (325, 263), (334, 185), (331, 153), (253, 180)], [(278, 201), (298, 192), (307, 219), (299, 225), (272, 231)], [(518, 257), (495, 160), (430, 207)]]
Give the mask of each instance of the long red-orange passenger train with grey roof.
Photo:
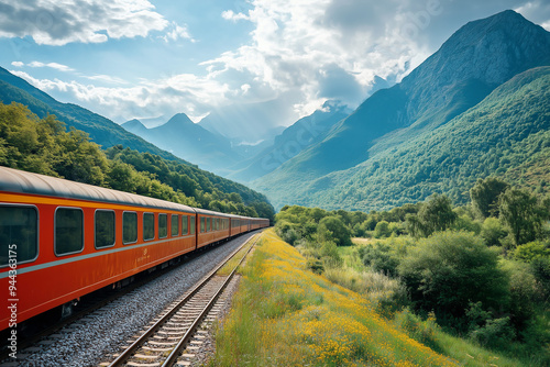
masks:
[(0, 167), (0, 331), (268, 225)]

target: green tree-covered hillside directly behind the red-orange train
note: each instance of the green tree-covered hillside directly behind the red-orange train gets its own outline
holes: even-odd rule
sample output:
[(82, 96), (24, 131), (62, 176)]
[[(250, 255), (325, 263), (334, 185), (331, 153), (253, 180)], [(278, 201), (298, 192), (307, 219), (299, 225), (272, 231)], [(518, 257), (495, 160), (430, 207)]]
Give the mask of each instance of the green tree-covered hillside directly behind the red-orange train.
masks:
[(263, 194), (240, 184), (122, 145), (102, 151), (86, 133), (19, 103), (0, 103), (0, 165), (227, 213), (274, 214)]

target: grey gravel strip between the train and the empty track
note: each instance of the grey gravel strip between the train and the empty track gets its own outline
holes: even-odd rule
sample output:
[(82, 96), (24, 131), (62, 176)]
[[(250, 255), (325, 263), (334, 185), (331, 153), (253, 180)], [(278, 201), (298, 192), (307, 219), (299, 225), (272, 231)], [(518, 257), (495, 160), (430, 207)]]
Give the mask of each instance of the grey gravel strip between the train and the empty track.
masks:
[(111, 355), (118, 353), (121, 345), (141, 334), (170, 302), (251, 236), (244, 234), (215, 247), (67, 325), (32, 348), (21, 351), (19, 366), (84, 367), (113, 359)]

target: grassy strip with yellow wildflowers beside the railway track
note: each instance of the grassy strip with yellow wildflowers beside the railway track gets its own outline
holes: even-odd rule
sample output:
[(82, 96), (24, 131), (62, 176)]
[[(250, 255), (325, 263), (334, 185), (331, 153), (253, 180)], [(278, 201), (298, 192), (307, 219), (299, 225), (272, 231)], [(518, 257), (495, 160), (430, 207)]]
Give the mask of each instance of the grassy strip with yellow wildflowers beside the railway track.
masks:
[(242, 276), (210, 366), (459, 365), (380, 316), (366, 298), (306, 270), (273, 230)]

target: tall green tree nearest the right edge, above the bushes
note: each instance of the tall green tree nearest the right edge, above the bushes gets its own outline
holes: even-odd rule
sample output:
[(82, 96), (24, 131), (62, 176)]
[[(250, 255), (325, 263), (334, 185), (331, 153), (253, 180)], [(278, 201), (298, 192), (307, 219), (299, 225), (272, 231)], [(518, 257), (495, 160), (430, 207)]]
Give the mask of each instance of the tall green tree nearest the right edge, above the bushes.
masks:
[(501, 221), (508, 227), (514, 245), (535, 241), (546, 216), (537, 198), (520, 189), (508, 189), (499, 198)]

